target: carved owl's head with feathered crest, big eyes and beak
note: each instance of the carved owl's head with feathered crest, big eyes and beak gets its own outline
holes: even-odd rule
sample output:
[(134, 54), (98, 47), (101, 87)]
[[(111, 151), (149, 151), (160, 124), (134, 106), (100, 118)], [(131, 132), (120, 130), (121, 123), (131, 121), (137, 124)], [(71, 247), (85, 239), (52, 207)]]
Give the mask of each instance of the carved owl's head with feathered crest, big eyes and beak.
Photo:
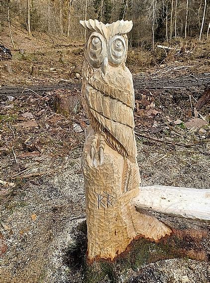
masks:
[(118, 67), (125, 64), (127, 56), (127, 35), (133, 26), (132, 21), (118, 20), (104, 24), (98, 20), (81, 20), (89, 31), (86, 41), (85, 57), (90, 66), (101, 68), (105, 74), (108, 65)]

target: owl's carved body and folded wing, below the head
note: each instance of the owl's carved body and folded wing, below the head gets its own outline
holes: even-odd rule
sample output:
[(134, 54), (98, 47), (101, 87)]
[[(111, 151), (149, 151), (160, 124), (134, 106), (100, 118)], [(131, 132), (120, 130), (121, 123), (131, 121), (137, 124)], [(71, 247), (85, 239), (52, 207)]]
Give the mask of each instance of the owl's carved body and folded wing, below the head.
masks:
[(91, 114), (107, 131), (109, 143), (114, 148), (122, 146), (125, 155), (135, 158), (134, 91), (129, 70), (120, 73), (119, 69), (117, 74), (110, 71), (105, 79), (100, 71), (95, 72), (85, 96)]

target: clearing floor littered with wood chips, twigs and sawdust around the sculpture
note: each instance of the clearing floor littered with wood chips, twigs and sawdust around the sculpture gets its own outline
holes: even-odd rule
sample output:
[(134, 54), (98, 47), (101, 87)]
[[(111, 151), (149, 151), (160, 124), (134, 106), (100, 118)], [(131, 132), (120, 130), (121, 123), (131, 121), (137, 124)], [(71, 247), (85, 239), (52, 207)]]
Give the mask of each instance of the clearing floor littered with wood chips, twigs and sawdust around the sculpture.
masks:
[[(34, 46), (33, 41), (30, 48)], [(65, 51), (65, 64), (59, 62), (60, 48)], [(0, 184), (1, 282), (77, 283), (83, 281), (79, 262), (85, 251), (68, 255), (76, 227), (85, 220), (81, 156), (89, 122), (80, 105), (65, 117), (53, 111), (52, 101), (56, 93), (79, 96), (81, 79), (72, 70), (77, 67), (80, 73), (83, 46), (61, 47), (60, 42), (57, 47), (43, 47), (43, 54), (40, 47), (37, 50), (30, 54), (37, 56), (35, 61), (27, 59), (29, 55), (18, 58), (15, 51), (12, 61), (0, 62), (0, 180), (14, 183), (14, 187)], [(178, 58), (143, 72), (140, 63), (137, 69), (128, 60), (135, 73), (134, 118), (142, 185), (209, 187), (208, 58)], [(11, 74), (4, 72), (5, 63), (11, 64)], [(33, 64), (39, 65), (36, 75), (30, 75)], [(206, 223), (157, 217), (175, 229), (208, 232)], [(206, 254), (208, 241), (208, 237), (203, 241)], [(107, 274), (101, 282), (207, 283), (207, 268), (206, 258), (199, 253), (193, 260), (165, 256), (129, 269), (124, 278), (111, 279)]]

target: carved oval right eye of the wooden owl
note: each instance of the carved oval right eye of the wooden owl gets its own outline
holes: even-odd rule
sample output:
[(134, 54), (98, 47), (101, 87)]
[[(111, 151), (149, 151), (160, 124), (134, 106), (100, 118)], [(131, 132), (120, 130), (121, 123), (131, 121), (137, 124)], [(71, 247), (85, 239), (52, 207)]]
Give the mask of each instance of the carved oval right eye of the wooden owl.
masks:
[(108, 43), (108, 59), (113, 64), (119, 65), (124, 57), (126, 52), (125, 40), (120, 35), (115, 35), (111, 38)]

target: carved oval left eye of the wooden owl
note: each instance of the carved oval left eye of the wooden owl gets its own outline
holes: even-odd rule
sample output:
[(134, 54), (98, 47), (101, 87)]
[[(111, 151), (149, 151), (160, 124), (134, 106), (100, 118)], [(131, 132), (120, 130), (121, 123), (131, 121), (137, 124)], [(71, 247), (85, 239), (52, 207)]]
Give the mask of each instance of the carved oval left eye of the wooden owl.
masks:
[(93, 67), (98, 68), (104, 60), (105, 40), (101, 34), (93, 32), (88, 41), (88, 58)]

